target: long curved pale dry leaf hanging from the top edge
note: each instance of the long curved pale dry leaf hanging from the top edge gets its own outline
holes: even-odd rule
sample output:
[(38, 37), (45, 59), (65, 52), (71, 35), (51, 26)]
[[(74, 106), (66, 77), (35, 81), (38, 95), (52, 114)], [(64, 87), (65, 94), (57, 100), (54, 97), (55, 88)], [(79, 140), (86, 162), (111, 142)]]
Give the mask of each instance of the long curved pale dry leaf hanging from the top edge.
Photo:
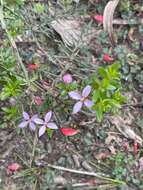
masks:
[(119, 1), (120, 0), (109, 1), (104, 9), (103, 14), (103, 27), (104, 30), (108, 32), (112, 45), (115, 45), (116, 43), (115, 37), (113, 35), (113, 15)]

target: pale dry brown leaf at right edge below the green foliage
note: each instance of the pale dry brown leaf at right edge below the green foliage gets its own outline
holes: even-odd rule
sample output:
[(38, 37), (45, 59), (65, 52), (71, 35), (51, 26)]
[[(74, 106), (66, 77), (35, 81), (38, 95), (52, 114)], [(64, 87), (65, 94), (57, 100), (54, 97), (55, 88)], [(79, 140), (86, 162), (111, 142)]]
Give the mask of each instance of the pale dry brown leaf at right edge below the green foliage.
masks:
[(142, 144), (143, 140), (137, 135), (131, 127), (127, 124), (127, 121), (120, 116), (111, 117), (111, 122), (126, 138), (136, 140), (139, 144)]

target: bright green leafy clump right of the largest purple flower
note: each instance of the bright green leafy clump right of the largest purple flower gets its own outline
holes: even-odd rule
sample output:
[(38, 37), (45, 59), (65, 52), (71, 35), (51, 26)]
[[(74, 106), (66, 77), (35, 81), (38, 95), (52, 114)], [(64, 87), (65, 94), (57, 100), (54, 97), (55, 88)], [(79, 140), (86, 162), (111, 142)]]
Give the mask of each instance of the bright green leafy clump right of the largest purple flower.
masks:
[(107, 68), (99, 67), (97, 75), (92, 78), (93, 110), (99, 122), (106, 112), (117, 112), (125, 98), (121, 95), (120, 64), (114, 63)]

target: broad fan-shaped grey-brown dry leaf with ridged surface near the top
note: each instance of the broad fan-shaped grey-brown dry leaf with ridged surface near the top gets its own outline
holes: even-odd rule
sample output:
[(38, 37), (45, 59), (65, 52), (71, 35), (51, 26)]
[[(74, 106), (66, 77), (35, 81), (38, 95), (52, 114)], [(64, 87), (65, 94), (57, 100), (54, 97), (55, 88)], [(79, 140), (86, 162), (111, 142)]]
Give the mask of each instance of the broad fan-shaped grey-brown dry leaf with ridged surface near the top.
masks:
[(63, 42), (68, 46), (88, 44), (101, 31), (95, 28), (85, 27), (79, 20), (58, 19), (51, 22), (52, 28), (61, 36)]

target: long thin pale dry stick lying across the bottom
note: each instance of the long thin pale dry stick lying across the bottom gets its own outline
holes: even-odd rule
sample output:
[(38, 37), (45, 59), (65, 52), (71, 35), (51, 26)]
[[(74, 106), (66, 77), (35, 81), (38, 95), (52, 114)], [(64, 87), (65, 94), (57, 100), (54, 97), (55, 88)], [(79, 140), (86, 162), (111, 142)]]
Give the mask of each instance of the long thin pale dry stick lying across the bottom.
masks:
[(97, 177), (99, 179), (107, 180), (107, 181), (110, 181), (111, 183), (115, 183), (115, 184), (120, 184), (120, 185), (125, 185), (126, 184), (124, 181), (120, 181), (120, 180), (100, 176), (99, 174), (94, 173), (94, 172), (79, 171), (79, 170), (74, 170), (74, 169), (65, 168), (65, 167), (62, 167), (62, 166), (56, 166), (56, 165), (52, 165), (52, 164), (47, 164), (46, 166), (49, 167), (49, 168), (53, 168), (53, 169), (61, 170), (61, 171), (66, 171), (66, 172), (70, 172), (70, 173), (94, 176), (94, 177)]

